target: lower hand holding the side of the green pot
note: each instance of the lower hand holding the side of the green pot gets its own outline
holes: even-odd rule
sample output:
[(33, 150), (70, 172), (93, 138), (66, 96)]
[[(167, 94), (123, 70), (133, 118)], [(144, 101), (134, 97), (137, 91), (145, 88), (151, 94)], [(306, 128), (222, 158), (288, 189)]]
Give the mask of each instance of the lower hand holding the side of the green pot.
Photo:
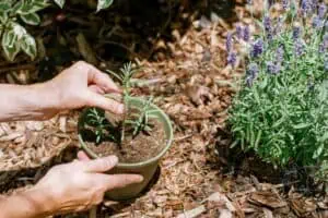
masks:
[(44, 204), (50, 214), (89, 209), (103, 201), (106, 191), (143, 180), (138, 174), (104, 174), (117, 164), (115, 156), (90, 160), (80, 153), (79, 159), (54, 167), (33, 189), (47, 195)]

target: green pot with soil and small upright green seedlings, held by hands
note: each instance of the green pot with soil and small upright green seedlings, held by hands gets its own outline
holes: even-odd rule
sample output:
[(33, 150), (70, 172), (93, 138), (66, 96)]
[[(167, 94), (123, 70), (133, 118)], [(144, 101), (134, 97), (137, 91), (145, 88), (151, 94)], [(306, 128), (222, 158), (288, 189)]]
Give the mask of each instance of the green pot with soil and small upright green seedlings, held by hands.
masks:
[(108, 173), (138, 173), (142, 183), (114, 190), (106, 196), (114, 201), (138, 197), (156, 172), (161, 157), (173, 141), (168, 117), (153, 104), (153, 98), (131, 96), (131, 63), (121, 69), (121, 74), (108, 71), (122, 85), (122, 96), (107, 95), (124, 102), (126, 112), (113, 114), (98, 108), (86, 108), (80, 116), (78, 131), (81, 148), (91, 158), (116, 155), (119, 164)]

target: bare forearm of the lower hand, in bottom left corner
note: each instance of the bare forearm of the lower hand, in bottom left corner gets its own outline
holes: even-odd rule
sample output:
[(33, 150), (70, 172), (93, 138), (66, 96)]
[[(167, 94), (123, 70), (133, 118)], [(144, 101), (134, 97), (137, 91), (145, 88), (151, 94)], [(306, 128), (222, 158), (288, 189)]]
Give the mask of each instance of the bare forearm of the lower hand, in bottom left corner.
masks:
[(38, 190), (13, 195), (0, 201), (0, 218), (40, 218), (52, 214), (50, 199)]

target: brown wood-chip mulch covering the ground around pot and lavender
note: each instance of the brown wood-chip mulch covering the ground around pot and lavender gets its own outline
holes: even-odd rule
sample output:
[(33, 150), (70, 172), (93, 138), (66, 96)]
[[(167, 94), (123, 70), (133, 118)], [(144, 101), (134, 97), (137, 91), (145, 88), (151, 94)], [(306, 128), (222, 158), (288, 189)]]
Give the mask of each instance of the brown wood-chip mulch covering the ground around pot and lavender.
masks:
[[(234, 11), (249, 22), (243, 4)], [(104, 202), (99, 217), (328, 216), (327, 196), (314, 194), (306, 185), (309, 192), (300, 190), (297, 169), (291, 169), (285, 179), (254, 155), (238, 156), (232, 154), (238, 150), (229, 149), (232, 141), (225, 121), (235, 94), (234, 76), (241, 76), (225, 66), (229, 23), (237, 20), (233, 14), (230, 20), (198, 16), (185, 34), (172, 29), (174, 41), (159, 41), (155, 60), (139, 61), (144, 70), (138, 77), (147, 86), (136, 92), (161, 97), (156, 104), (174, 122), (174, 144), (149, 192), (134, 202)], [(7, 71), (2, 75), (11, 82), (25, 74)], [(71, 111), (45, 122), (0, 124), (1, 193), (26, 189), (50, 166), (74, 158), (79, 114)], [(265, 177), (268, 170), (272, 171)]]

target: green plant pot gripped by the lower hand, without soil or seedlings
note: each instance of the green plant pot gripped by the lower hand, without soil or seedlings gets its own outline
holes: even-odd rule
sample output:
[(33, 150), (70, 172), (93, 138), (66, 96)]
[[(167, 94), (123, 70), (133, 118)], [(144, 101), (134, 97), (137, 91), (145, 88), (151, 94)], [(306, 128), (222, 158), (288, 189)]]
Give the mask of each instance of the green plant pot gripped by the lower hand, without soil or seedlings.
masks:
[[(129, 98), (130, 105), (133, 105), (134, 107), (142, 107), (144, 104), (143, 99), (140, 98)], [(129, 186), (126, 186), (124, 189), (113, 190), (106, 193), (106, 197), (113, 201), (125, 201), (125, 199), (131, 199), (137, 197), (149, 184), (151, 179), (153, 178), (157, 167), (159, 161), (163, 157), (163, 155), (168, 150), (168, 148), (172, 145), (173, 142), (173, 129), (171, 124), (171, 120), (164, 113), (163, 110), (161, 110), (157, 106), (151, 105), (151, 109), (153, 109), (150, 112), (150, 117), (156, 118), (160, 122), (164, 124), (165, 130), (165, 137), (166, 137), (166, 145), (165, 147), (157, 154), (155, 157), (152, 157), (151, 159), (148, 159), (145, 161), (136, 162), (136, 164), (126, 164), (126, 162), (119, 162), (113, 170), (110, 170), (108, 173), (116, 174), (116, 173), (137, 173), (143, 175), (143, 182), (139, 184), (131, 184)], [(83, 118), (85, 117), (86, 111), (83, 111), (79, 119), (78, 124), (78, 131), (79, 131), (79, 141), (81, 148), (91, 157), (91, 158), (98, 158), (98, 156), (93, 153), (87, 145), (82, 140), (82, 136), (80, 134), (81, 129), (83, 129)]]

